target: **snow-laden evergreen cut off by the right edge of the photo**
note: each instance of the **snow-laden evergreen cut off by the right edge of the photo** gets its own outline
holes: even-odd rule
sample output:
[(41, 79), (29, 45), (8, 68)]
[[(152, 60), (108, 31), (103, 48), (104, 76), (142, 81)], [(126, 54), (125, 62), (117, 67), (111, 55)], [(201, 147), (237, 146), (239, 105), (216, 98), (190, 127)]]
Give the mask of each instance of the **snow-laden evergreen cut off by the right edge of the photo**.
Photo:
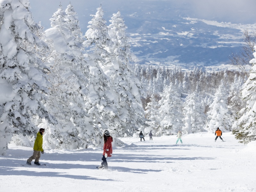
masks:
[[(256, 50), (256, 46), (254, 47)], [(253, 53), (252, 69), (250, 76), (245, 82), (242, 98), (246, 102), (246, 107), (240, 110), (241, 117), (233, 124), (233, 134), (239, 142), (247, 144), (256, 140), (256, 52)]]

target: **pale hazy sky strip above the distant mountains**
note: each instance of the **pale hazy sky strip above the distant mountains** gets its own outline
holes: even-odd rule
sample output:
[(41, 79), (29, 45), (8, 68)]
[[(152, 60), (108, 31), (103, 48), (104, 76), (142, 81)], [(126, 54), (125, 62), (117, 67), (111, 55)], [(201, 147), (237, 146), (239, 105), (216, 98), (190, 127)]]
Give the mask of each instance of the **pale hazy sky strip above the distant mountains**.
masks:
[[(60, 4), (65, 10), (69, 2), (78, 13), (77, 17), (83, 32), (87, 30), (88, 22), (92, 19), (90, 14), (95, 14), (100, 5), (106, 12), (104, 18), (107, 21), (120, 9), (124, 20), (133, 12), (143, 14), (145, 11), (145, 13), (163, 12), (157, 15), (162, 18), (156, 19), (173, 17), (173, 14), (176, 14), (182, 17), (218, 22), (256, 23), (255, 0), (30, 0), (31, 12), (36, 22), (40, 20), (45, 28), (50, 28), (49, 19), (52, 14), (56, 12)], [(169, 12), (170, 15), (168, 15)], [(148, 16), (154, 17), (152, 14)]]

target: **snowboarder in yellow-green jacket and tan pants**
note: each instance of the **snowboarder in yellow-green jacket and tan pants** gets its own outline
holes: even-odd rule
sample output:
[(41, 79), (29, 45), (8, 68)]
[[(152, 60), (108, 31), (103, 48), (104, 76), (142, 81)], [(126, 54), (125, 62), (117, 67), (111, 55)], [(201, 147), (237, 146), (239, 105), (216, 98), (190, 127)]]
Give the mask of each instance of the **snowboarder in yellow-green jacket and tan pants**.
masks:
[(41, 153), (44, 154), (44, 149), (43, 149), (43, 134), (44, 134), (44, 129), (41, 128), (39, 129), (39, 132), (36, 134), (36, 140), (34, 144), (34, 153), (31, 157), (28, 158), (27, 164), (31, 165), (31, 161), (35, 159), (34, 164), (40, 165), (39, 163), (39, 158), (41, 156)]

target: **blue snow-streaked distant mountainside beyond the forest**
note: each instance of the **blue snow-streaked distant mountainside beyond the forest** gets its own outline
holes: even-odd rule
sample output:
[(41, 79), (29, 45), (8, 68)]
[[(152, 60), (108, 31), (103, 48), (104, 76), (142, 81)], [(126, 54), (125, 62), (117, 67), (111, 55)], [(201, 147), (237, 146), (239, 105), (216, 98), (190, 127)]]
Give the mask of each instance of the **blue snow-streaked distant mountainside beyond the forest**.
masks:
[[(133, 18), (130, 18), (131, 20)], [(136, 19), (134, 19), (135, 21)], [(186, 18), (150, 20), (132, 34), (132, 50), (141, 64), (211, 66), (227, 64), (231, 52), (239, 52), (242, 31)], [(186, 68), (187, 68), (186, 67)]]

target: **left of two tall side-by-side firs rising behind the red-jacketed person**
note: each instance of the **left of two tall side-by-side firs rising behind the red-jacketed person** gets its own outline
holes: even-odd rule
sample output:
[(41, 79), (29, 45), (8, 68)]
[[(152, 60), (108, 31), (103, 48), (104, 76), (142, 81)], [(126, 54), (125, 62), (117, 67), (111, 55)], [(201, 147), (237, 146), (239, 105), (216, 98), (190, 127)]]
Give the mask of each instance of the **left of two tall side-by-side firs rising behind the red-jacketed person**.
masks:
[[(87, 40), (84, 41), (84, 45), (90, 50), (87, 52), (89, 55), (87, 62), (91, 76), (88, 85), (88, 97), (90, 99), (86, 106), (91, 107), (89, 113), (94, 114), (93, 121), (101, 125), (102, 131), (109, 129), (111, 133), (115, 132), (116, 136), (123, 136), (123, 127), (120, 132), (117, 129), (123, 123), (118, 115), (118, 109), (121, 108), (117, 99), (118, 96), (114, 91), (112, 81), (107, 76), (108, 74), (106, 75), (102, 70), (111, 62), (113, 42), (108, 35), (103, 10), (101, 7), (97, 10), (95, 15), (91, 15), (92, 20), (89, 21), (88, 30), (85, 33)], [(125, 115), (123, 118), (126, 118)], [(129, 133), (128, 130), (127, 133)]]

